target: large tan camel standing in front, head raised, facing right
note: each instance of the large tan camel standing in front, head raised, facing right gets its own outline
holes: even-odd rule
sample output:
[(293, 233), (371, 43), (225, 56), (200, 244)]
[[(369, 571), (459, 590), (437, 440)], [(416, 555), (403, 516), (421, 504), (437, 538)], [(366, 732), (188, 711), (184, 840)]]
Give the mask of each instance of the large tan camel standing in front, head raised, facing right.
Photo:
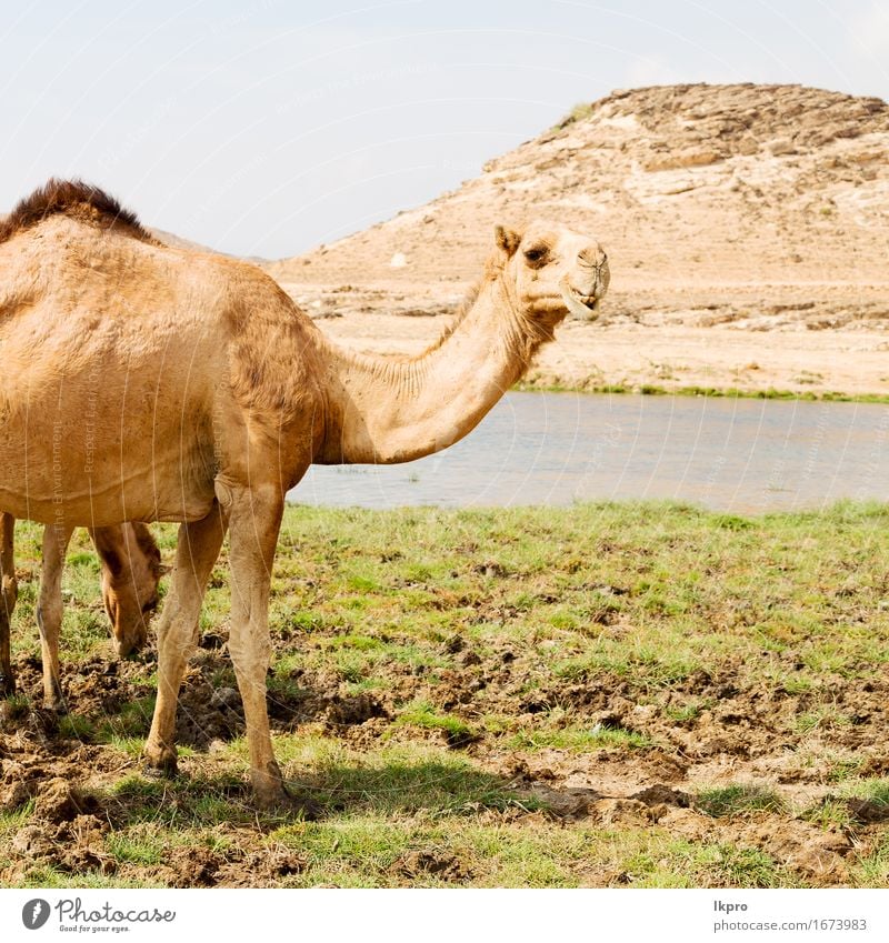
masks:
[(266, 710), (287, 492), (313, 462), (407, 462), (457, 442), (568, 314), (597, 317), (608, 288), (602, 248), (563, 227), (497, 227), (493, 243), (451, 329), (389, 359), (341, 349), (260, 269), (163, 245), (82, 182), (50, 181), (0, 225), (0, 510), (67, 526), (180, 522), (151, 770), (177, 770), (178, 692), (228, 532), (253, 796), (290, 802)]

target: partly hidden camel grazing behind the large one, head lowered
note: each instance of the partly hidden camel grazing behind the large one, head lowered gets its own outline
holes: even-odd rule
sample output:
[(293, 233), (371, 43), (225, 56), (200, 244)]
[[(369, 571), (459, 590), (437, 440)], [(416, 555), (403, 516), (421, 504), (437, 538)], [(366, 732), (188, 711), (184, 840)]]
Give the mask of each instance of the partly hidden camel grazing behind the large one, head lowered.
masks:
[[(9, 651), (9, 629), (18, 599), (13, 534), (16, 519), (0, 513), (0, 698), (16, 693)], [(73, 528), (47, 524), (43, 529), (43, 564), (37, 604), (40, 648), (43, 656), (43, 706), (64, 713), (59, 670), (59, 632), (62, 624), (62, 568)], [(102, 563), (102, 600), (111, 622), (111, 638), (119, 658), (146, 643), (148, 623), (158, 605), (162, 572), (160, 551), (151, 531), (141, 523), (90, 530)]]

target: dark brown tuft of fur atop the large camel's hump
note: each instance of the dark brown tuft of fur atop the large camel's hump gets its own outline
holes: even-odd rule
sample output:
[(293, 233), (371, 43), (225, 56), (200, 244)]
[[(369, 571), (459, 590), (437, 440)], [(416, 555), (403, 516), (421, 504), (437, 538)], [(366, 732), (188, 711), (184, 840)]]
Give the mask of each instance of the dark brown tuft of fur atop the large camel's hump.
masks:
[(0, 242), (6, 242), (16, 233), (30, 229), (57, 213), (104, 229), (120, 229), (144, 242), (156, 241), (139, 222), (136, 213), (124, 210), (104, 190), (82, 180), (58, 180), (52, 177), (21, 200), (11, 213), (0, 221)]

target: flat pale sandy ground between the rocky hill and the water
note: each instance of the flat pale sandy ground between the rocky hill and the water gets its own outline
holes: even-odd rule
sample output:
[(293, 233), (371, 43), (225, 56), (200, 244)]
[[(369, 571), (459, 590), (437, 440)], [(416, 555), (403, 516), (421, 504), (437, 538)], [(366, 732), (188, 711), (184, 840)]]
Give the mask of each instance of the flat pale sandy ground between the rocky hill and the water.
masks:
[[(417, 354), (450, 321), (446, 313), (421, 317), (408, 307), (412, 299), (423, 297), (421, 284), (392, 288), (377, 283), (349, 291), (338, 285), (286, 282), (283, 287), (319, 319), (326, 333), (360, 351)], [(793, 289), (812, 293), (810, 285), (782, 285), (780, 290), (787, 297), (795, 293)], [(777, 293), (775, 290), (771, 298)], [(860, 292), (872, 297), (875, 303), (883, 293), (889, 294), (889, 287)], [(753, 394), (889, 395), (889, 334), (885, 330), (889, 321), (855, 320), (841, 328), (809, 328), (801, 323), (796, 308), (789, 309), (791, 314), (783, 325), (775, 323), (780, 314), (751, 313), (738, 321), (720, 322), (718, 311), (689, 311), (675, 318), (652, 311), (647, 318), (633, 318), (622, 313), (629, 295), (620, 289), (612, 291), (597, 323), (562, 324), (556, 343), (539, 353), (526, 385), (590, 391), (698, 388)], [(636, 300), (638, 303), (638, 295)], [(354, 311), (356, 302), (366, 310)], [(442, 300), (442, 311), (452, 308), (447, 298)], [(751, 311), (761, 308), (751, 300)], [(411, 314), (390, 313), (399, 309)], [(344, 314), (333, 315), (337, 311)], [(762, 327), (767, 319), (771, 323)]]

